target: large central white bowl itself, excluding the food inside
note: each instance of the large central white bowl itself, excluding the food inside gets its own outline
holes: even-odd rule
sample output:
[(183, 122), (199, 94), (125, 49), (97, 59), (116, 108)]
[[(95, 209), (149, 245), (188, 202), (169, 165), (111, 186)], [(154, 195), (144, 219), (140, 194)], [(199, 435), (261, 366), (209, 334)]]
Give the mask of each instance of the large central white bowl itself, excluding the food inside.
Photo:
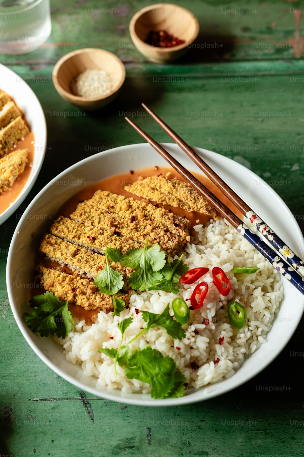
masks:
[[(165, 149), (174, 153), (175, 158), (188, 170), (196, 170), (191, 160), (172, 143), (164, 143)], [(304, 252), (304, 239), (297, 222), (289, 208), (280, 197), (257, 175), (227, 157), (195, 148), (198, 154), (230, 185), (242, 195), (249, 206), (265, 218), (279, 236), (299, 255)], [(149, 394), (125, 394), (120, 391), (109, 391), (107, 388), (96, 388), (96, 378), (85, 376), (78, 365), (68, 362), (62, 353), (62, 346), (55, 343), (52, 337), (41, 338), (33, 333), (24, 323), (22, 315), (28, 311), (31, 298), (30, 285), (33, 282), (34, 255), (38, 239), (31, 236), (33, 232), (40, 235), (48, 230), (51, 220), (58, 208), (85, 186), (90, 186), (105, 177), (126, 172), (141, 170), (155, 165), (167, 165), (149, 144), (134, 144), (93, 155), (72, 165), (45, 186), (27, 207), (13, 235), (7, 260), (7, 290), (15, 320), (37, 356), (77, 388), (87, 390), (93, 395), (127, 404), (146, 406), (173, 406), (193, 403), (216, 397), (252, 378), (262, 371), (282, 351), (304, 310), (304, 297), (283, 278), (284, 298), (276, 316), (273, 328), (268, 334), (268, 342), (263, 344), (244, 362), (237, 372), (225, 379), (198, 391), (191, 391), (178, 399), (155, 400)], [(21, 287), (20, 285), (27, 287)], [(33, 367), (35, 370), (35, 367)]]

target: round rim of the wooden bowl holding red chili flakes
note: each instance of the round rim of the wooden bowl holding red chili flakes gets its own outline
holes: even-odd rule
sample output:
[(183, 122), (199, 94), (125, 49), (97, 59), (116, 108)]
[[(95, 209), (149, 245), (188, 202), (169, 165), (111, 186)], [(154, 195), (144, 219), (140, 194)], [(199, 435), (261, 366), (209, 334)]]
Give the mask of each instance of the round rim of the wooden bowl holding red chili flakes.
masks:
[[(153, 10), (156, 7), (165, 8), (166, 5), (171, 6), (171, 7), (175, 6), (176, 8), (188, 13), (189, 16), (192, 16), (192, 18), (194, 19), (194, 22), (195, 22), (195, 30), (193, 32), (192, 38), (190, 40), (185, 40), (185, 43), (179, 44), (178, 46), (174, 46), (173, 48), (158, 48), (156, 46), (152, 46), (148, 43), (145, 43), (141, 38), (139, 38), (139, 36), (135, 32), (135, 24), (136, 24), (136, 21), (139, 19), (139, 17), (142, 16), (147, 11)], [(197, 38), (197, 36), (200, 32), (200, 24), (199, 24), (199, 21), (197, 20), (197, 17), (191, 11), (189, 11), (187, 8), (184, 8), (183, 6), (175, 5), (174, 3), (155, 3), (154, 5), (149, 5), (149, 6), (145, 6), (144, 8), (141, 8), (139, 11), (137, 11), (134, 14), (134, 16), (132, 16), (130, 23), (129, 23), (129, 32), (130, 32), (130, 36), (131, 36), (132, 40), (134, 39), (134, 41), (137, 41), (138, 42), (137, 44), (140, 44), (141, 48), (155, 49), (155, 50), (157, 50), (157, 52), (160, 52), (160, 53), (169, 53), (169, 52), (172, 53), (175, 51), (179, 51), (180, 49), (184, 49), (189, 44), (194, 42), (194, 40)]]

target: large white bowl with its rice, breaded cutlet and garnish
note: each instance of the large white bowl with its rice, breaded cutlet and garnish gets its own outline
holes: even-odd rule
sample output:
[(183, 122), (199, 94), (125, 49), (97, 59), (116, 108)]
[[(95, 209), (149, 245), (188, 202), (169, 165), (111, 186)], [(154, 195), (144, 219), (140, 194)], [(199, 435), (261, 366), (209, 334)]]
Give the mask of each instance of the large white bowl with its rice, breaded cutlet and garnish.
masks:
[[(196, 151), (284, 232), (277, 214), (290, 211), (270, 187), (258, 197), (251, 171)], [(88, 187), (53, 186), (79, 176)], [(42, 211), (52, 223), (30, 224)], [(303, 250), (292, 218), (289, 229), (284, 239)], [(285, 282), (148, 144), (96, 154), (51, 181), (21, 218), (7, 265), (15, 319), (49, 367), (95, 395), (149, 406), (208, 399), (266, 367), (303, 313)], [(31, 287), (21, 295), (16, 283)]]

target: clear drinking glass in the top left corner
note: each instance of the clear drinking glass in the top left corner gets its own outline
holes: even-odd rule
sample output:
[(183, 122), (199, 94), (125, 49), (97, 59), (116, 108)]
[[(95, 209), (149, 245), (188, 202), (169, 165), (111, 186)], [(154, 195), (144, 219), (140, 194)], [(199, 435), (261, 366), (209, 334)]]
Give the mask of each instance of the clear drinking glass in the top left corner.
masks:
[(50, 33), (49, 0), (0, 0), (0, 53), (28, 53)]

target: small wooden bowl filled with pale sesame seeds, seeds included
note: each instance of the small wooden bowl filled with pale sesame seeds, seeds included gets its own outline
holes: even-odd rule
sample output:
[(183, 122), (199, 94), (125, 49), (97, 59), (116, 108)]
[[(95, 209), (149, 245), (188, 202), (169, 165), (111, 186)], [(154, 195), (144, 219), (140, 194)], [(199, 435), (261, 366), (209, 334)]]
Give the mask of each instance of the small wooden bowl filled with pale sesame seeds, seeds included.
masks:
[(105, 49), (86, 48), (67, 53), (52, 73), (60, 96), (85, 111), (108, 105), (124, 83), (121, 60)]

